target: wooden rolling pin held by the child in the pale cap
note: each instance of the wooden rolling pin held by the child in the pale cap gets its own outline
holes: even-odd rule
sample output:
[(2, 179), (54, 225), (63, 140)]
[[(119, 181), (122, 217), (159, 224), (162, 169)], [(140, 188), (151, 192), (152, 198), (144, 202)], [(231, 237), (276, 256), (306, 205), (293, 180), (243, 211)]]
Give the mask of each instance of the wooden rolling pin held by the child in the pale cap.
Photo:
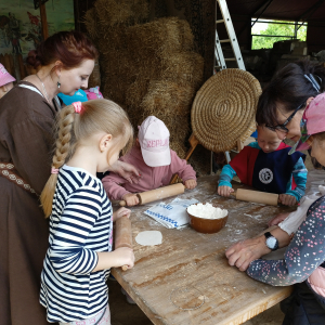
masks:
[[(178, 183), (173, 185), (159, 187), (153, 191), (138, 193), (136, 196), (139, 197), (140, 200), (139, 205), (145, 205), (154, 200), (162, 199), (178, 194), (183, 194), (184, 191), (185, 191), (185, 186), (182, 183)], [(125, 207), (127, 203), (125, 200), (120, 200), (119, 205), (121, 207)]]

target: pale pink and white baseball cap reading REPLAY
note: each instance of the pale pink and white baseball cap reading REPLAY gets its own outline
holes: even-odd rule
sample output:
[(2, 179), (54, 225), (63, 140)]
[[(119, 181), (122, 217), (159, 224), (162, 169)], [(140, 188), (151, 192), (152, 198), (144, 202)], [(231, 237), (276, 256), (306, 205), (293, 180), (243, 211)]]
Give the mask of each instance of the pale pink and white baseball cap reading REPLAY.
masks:
[(148, 116), (138, 128), (144, 162), (150, 167), (170, 165), (170, 133), (164, 121), (155, 116)]

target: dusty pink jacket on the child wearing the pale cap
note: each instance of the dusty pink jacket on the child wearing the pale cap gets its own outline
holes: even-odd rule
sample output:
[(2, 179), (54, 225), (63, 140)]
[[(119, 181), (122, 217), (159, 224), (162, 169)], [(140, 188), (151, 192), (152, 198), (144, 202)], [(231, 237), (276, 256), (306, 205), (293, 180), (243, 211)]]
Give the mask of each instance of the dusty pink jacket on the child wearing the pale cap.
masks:
[(183, 181), (196, 180), (196, 173), (186, 160), (178, 157), (174, 151), (170, 151), (171, 162), (169, 166), (150, 167), (142, 157), (140, 146), (134, 145), (129, 154), (121, 157), (121, 161), (133, 165), (140, 172), (141, 179), (138, 184), (131, 184), (126, 179), (110, 172), (102, 182), (110, 199), (122, 199), (129, 193), (141, 193), (166, 186), (171, 177), (178, 173)]

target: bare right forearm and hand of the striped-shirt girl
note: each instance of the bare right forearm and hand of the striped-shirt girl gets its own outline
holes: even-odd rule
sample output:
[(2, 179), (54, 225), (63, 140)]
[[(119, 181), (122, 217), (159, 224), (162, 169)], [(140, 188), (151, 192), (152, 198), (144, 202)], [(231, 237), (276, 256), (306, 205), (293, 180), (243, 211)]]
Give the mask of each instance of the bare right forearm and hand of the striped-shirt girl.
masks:
[(98, 251), (96, 253), (99, 256), (99, 261), (92, 272), (110, 268), (120, 268), (123, 265), (127, 265), (128, 269), (134, 266), (133, 249), (129, 247), (120, 247), (113, 251)]

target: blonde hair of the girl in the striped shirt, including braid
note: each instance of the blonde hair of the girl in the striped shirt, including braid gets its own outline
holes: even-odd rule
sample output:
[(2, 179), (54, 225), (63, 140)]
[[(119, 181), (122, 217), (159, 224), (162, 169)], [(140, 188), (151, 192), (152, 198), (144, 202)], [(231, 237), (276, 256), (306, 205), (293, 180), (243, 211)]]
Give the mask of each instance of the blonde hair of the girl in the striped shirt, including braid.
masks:
[[(87, 140), (100, 131), (119, 138), (118, 146), (121, 146), (123, 153), (132, 146), (133, 128), (126, 112), (116, 103), (108, 100), (83, 102), (79, 114), (75, 113), (73, 105), (64, 107), (56, 122), (57, 140), (52, 168), (61, 168), (74, 155), (79, 141)], [(109, 155), (110, 153), (107, 161)], [(57, 173), (52, 173), (40, 196), (47, 218), (52, 212), (56, 182)]]

